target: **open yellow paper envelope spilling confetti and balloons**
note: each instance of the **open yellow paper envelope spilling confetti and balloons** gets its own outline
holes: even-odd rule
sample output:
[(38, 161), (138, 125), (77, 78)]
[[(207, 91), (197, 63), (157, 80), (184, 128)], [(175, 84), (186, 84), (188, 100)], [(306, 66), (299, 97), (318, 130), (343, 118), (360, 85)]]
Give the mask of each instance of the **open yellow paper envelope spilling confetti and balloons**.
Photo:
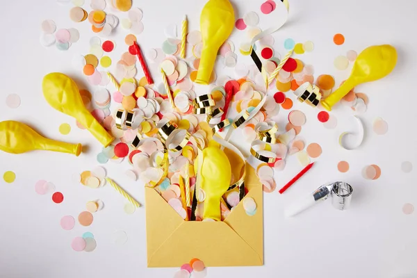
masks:
[(240, 202), (223, 222), (184, 221), (156, 190), (145, 188), (148, 267), (179, 267), (194, 258), (206, 266), (263, 265), (262, 185), (246, 167), (245, 197), (257, 206), (253, 216)]

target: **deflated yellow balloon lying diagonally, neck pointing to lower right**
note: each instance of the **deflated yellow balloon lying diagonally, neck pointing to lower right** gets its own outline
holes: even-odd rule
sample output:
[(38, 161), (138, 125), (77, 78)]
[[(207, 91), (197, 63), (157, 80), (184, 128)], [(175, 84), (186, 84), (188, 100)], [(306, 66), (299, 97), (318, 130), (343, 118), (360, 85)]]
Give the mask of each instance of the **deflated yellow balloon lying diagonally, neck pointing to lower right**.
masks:
[(42, 90), (50, 106), (76, 118), (104, 147), (113, 142), (115, 138), (85, 108), (79, 89), (70, 77), (59, 72), (47, 74), (42, 82)]

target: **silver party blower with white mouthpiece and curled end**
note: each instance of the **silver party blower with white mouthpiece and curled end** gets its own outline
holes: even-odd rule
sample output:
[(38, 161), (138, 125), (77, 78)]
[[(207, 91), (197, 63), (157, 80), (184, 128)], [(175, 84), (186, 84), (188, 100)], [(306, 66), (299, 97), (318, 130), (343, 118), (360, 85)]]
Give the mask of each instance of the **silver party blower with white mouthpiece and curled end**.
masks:
[(297, 200), (292, 206), (286, 208), (285, 216), (291, 217), (305, 211), (307, 208), (332, 197), (332, 205), (338, 210), (344, 211), (350, 206), (353, 188), (348, 183), (336, 181), (324, 186), (320, 186), (312, 194)]

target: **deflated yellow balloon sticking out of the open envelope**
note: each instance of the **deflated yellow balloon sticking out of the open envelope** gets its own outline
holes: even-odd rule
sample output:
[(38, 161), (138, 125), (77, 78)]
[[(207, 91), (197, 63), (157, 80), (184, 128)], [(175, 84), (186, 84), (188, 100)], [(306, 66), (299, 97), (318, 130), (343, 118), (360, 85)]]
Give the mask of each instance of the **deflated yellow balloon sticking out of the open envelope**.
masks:
[[(197, 180), (206, 193), (203, 218), (221, 220), (220, 199), (229, 189), (231, 165), (226, 154), (218, 147), (206, 147), (202, 152), (203, 163)], [(197, 164), (198, 158), (196, 160)], [(198, 165), (195, 165), (196, 169)], [(200, 183), (201, 182), (201, 183)]]

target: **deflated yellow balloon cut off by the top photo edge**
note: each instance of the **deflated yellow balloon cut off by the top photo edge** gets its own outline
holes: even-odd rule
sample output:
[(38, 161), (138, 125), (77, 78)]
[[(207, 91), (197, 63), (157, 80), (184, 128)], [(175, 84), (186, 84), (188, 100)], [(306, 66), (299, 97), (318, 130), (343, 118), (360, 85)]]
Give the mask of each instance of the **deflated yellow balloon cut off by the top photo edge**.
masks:
[(215, 58), (234, 28), (234, 9), (229, 0), (208, 0), (200, 15), (203, 50), (195, 83), (208, 85)]

